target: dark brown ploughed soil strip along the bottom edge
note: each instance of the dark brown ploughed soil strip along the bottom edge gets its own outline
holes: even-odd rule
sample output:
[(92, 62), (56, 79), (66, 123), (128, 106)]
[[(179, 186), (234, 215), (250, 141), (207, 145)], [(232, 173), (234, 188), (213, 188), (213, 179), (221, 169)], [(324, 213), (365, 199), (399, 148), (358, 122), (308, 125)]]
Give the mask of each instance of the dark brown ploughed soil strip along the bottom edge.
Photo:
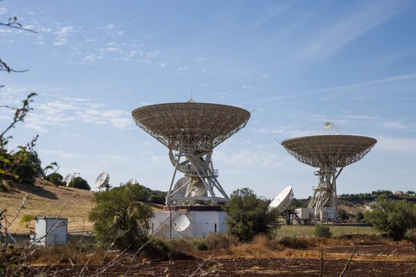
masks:
[[(323, 276), (339, 276), (346, 260), (324, 260)], [(128, 276), (190, 276), (200, 262), (186, 260), (154, 262), (148, 266), (133, 265)], [(168, 268), (170, 267), (170, 269)], [(67, 269), (67, 270), (65, 270)], [(78, 276), (82, 267), (53, 267), (61, 271), (57, 276)], [(85, 276), (93, 276), (98, 267), (88, 267)], [(167, 269), (166, 273), (164, 272)], [(125, 276), (128, 265), (107, 269), (99, 276)], [(209, 260), (196, 276), (208, 272), (205, 276), (319, 276), (320, 260), (302, 258), (232, 258)], [(27, 275), (33, 276), (33, 275)], [(53, 276), (53, 272), (51, 275)], [(354, 261), (350, 263), (344, 276), (416, 276), (415, 262), (390, 261)]]

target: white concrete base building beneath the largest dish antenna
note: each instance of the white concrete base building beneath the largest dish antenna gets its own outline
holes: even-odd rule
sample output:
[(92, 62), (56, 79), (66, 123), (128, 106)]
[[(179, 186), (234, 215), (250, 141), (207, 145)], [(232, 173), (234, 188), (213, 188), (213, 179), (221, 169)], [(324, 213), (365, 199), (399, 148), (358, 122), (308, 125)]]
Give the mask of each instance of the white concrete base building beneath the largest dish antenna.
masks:
[[(218, 206), (165, 206), (162, 212), (155, 212), (150, 219), (150, 235), (159, 238), (196, 238), (205, 237), (209, 233), (225, 233), (226, 213)], [(172, 213), (172, 215), (171, 215)], [(171, 216), (170, 216), (171, 215)], [(182, 232), (175, 229), (175, 220), (185, 215), (190, 224)], [(171, 224), (172, 222), (172, 224)]]

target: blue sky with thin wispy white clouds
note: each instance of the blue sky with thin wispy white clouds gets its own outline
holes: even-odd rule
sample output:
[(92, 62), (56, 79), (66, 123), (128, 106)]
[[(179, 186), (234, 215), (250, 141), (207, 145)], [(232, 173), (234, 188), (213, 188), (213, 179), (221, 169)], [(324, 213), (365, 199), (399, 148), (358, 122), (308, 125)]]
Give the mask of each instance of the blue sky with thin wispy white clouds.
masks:
[[(40, 134), (43, 163), (94, 184), (137, 179), (167, 190), (168, 150), (135, 126), (132, 109), (215, 102), (252, 111), (214, 150), (219, 181), (272, 197), (308, 197), (314, 168), (276, 141), (313, 134), (329, 119), (379, 142), (343, 170), (338, 193), (414, 190), (415, 1), (1, 1), (39, 33), (0, 28), (1, 104), (35, 91), (13, 145)], [(253, 111), (254, 110), (254, 111)], [(1, 123), (10, 113), (0, 111)]]

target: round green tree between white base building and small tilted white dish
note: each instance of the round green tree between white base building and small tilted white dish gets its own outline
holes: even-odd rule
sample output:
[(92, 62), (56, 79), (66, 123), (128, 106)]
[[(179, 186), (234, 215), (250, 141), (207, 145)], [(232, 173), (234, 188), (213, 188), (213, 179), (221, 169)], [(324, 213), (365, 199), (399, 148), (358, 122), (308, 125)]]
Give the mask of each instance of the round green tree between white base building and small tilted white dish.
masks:
[(227, 232), (247, 242), (259, 234), (270, 234), (277, 228), (277, 211), (268, 210), (268, 201), (260, 199), (250, 188), (234, 190), (229, 197)]

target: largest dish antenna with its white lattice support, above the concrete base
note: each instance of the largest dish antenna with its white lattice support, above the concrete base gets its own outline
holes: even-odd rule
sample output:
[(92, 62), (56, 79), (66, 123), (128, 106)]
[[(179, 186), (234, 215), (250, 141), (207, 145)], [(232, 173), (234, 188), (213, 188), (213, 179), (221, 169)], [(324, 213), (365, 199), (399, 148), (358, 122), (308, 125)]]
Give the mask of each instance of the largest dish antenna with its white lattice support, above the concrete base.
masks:
[[(216, 146), (245, 127), (250, 118), (249, 111), (191, 99), (140, 107), (132, 111), (132, 117), (137, 126), (169, 149), (175, 171), (166, 205), (176, 200), (187, 205), (198, 201), (210, 201), (213, 205), (229, 201), (217, 179), (218, 170), (214, 168), (211, 156)], [(172, 191), (177, 171), (190, 178), (183, 185), (187, 186), (185, 195), (175, 195)], [(216, 195), (214, 188), (222, 197)]]

